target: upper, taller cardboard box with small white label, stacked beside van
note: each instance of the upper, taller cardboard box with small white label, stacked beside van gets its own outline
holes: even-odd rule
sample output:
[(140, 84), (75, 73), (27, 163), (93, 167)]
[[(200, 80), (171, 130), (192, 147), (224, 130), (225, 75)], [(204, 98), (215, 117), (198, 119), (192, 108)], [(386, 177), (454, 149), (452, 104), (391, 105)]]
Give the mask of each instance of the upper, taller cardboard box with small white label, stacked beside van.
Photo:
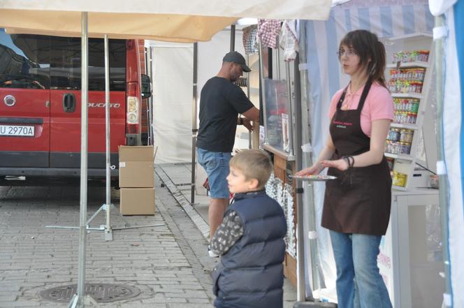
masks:
[(119, 145), (119, 187), (154, 187), (153, 146)]

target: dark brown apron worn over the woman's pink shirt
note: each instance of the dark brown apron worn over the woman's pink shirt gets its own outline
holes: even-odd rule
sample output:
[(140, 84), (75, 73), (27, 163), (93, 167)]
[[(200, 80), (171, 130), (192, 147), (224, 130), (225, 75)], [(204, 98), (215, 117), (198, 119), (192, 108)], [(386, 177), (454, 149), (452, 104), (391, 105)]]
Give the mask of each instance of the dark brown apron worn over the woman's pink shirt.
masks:
[[(332, 159), (355, 156), (370, 149), (370, 138), (361, 130), (361, 110), (371, 82), (366, 83), (356, 110), (342, 110), (343, 91), (330, 125), (335, 145)], [(326, 182), (321, 225), (340, 233), (384, 235), (389, 225), (391, 176), (385, 157), (377, 165), (345, 171), (328, 168), (337, 179)]]

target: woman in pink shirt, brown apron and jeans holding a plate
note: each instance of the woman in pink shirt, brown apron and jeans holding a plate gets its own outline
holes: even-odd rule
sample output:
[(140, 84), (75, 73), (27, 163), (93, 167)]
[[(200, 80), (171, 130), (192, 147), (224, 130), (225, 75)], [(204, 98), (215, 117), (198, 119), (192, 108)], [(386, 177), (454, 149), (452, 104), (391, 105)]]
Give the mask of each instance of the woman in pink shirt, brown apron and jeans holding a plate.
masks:
[[(297, 175), (328, 168), (321, 225), (330, 230), (339, 308), (391, 308), (377, 267), (389, 225), (391, 177), (384, 146), (393, 119), (385, 47), (369, 31), (349, 32), (338, 50), (350, 82), (332, 98), (330, 135), (319, 159)], [(356, 286), (356, 287), (355, 287)]]

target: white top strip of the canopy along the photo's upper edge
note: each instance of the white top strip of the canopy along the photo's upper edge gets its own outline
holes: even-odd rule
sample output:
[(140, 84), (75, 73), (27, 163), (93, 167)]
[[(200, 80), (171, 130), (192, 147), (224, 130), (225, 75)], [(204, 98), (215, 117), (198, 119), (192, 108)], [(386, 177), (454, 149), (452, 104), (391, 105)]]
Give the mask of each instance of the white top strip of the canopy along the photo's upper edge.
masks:
[(140, 13), (324, 20), (331, 0), (2, 0), (0, 8), (98, 13)]

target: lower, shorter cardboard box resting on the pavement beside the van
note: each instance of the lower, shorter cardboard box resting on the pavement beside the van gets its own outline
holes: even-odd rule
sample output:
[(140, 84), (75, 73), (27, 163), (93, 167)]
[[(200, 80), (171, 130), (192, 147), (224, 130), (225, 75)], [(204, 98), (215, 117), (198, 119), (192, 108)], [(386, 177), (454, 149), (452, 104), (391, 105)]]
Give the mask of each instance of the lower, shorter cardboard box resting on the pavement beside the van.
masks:
[(119, 210), (123, 215), (154, 215), (153, 188), (122, 188)]

